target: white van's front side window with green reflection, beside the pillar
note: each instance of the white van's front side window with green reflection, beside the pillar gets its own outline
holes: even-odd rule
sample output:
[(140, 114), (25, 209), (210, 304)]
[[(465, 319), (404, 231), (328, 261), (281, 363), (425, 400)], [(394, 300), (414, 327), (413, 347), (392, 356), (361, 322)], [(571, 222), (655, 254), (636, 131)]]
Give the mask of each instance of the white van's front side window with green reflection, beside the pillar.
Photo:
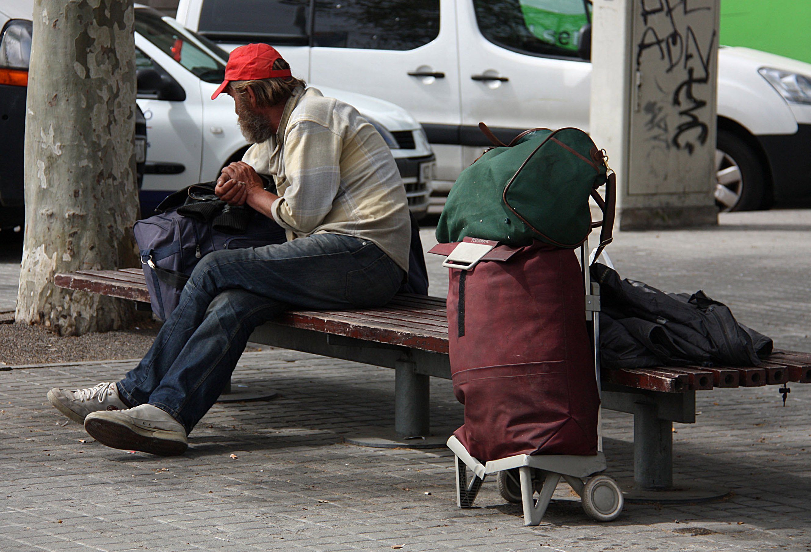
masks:
[(493, 44), (535, 56), (577, 57), (589, 0), (474, 0), (478, 29)]

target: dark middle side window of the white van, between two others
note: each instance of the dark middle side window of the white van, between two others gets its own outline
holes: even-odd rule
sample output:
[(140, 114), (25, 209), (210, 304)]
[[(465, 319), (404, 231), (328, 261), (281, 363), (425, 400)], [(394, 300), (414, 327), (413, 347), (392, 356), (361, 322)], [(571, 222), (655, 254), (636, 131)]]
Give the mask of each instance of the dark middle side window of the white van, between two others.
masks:
[(315, 2), (313, 45), (410, 50), (440, 32), (440, 0)]

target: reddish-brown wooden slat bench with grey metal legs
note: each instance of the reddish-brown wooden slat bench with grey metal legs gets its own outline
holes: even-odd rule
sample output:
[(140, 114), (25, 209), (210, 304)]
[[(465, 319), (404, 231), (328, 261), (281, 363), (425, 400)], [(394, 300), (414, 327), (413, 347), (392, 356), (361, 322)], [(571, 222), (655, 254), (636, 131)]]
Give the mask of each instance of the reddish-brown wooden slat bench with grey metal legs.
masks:
[[(142, 303), (141, 269), (57, 274), (58, 287)], [(391, 367), (397, 435), (430, 435), (429, 378), (450, 378), (445, 300), (397, 295), (382, 308), (288, 311), (255, 329), (252, 342)], [(672, 422), (695, 422), (695, 393), (714, 388), (811, 382), (811, 354), (779, 351), (761, 367), (655, 367), (602, 372), (603, 407), (634, 415), (637, 486), (672, 485)], [(776, 395), (776, 393), (775, 393)]]

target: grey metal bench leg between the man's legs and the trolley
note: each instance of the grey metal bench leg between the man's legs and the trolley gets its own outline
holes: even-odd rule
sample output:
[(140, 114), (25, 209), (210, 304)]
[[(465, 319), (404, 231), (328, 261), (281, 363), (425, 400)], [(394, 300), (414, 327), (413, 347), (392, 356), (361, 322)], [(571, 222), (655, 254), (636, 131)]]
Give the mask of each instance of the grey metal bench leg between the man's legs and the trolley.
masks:
[(412, 437), (431, 435), (431, 382), (417, 373), (417, 364), (398, 361), (394, 366), (394, 431)]

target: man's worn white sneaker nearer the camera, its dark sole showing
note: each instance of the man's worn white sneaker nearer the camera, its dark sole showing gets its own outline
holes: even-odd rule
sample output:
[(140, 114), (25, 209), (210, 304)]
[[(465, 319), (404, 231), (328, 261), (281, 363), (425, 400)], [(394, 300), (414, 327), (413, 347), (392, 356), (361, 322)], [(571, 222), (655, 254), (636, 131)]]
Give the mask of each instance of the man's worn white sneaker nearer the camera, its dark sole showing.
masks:
[(84, 431), (99, 443), (122, 450), (178, 456), (189, 448), (186, 429), (157, 406), (101, 410), (84, 418)]

